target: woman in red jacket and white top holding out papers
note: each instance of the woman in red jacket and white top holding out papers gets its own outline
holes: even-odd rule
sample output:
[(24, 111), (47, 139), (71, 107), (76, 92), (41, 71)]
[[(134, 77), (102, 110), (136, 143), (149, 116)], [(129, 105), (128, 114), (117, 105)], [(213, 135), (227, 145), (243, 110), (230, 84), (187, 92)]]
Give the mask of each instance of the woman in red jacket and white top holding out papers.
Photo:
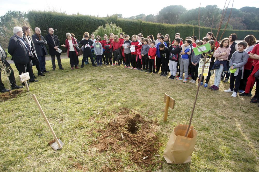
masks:
[(67, 56), (70, 59), (70, 66), (71, 69), (74, 70), (74, 66), (76, 69), (79, 69), (77, 67), (76, 57), (78, 56), (78, 52), (76, 50), (76, 46), (78, 45), (76, 40), (71, 36), (70, 33), (66, 33), (66, 45), (61, 45), (62, 47), (67, 48)]

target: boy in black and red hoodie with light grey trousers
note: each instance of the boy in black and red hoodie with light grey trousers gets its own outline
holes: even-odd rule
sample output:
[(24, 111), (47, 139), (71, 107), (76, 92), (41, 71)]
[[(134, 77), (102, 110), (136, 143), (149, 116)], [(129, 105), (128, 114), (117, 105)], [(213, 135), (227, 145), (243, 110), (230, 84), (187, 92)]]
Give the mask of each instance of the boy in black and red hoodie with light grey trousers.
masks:
[(174, 39), (174, 44), (170, 45), (168, 50), (169, 54), (169, 69), (171, 76), (169, 79), (175, 79), (176, 70), (177, 70), (177, 63), (179, 61), (179, 53), (182, 50), (182, 47), (179, 45), (181, 42), (180, 38)]

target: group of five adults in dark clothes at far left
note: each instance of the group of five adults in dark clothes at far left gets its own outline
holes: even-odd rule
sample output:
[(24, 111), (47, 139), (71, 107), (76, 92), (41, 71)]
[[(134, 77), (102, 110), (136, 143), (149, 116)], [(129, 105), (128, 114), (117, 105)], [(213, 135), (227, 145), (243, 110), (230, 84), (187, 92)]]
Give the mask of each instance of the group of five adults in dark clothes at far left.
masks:
[[(32, 66), (35, 66), (38, 70), (38, 76), (45, 76), (44, 73), (49, 72), (46, 70), (46, 55), (48, 55), (46, 45), (49, 46), (49, 55), (51, 55), (52, 61), (52, 70), (56, 69), (55, 56), (57, 57), (57, 62), (59, 69), (63, 70), (61, 64), (61, 59), (59, 53), (59, 39), (54, 35), (53, 28), (48, 29), (48, 34), (45, 38), (41, 35), (40, 28), (35, 28), (35, 34), (30, 35), (30, 27), (23, 26), (13, 28), (13, 36), (10, 38), (8, 53), (12, 56), (15, 67), (17, 68), (19, 75), (22, 73), (29, 73), (30, 80), (29, 82), (37, 82), (35, 80), (37, 77), (33, 74)], [(0, 44), (0, 57), (1, 61), (6, 65), (6, 68), (9, 67), (11, 70), (9, 81), (11, 83), (11, 89), (23, 88), (23, 86), (18, 86), (15, 81), (15, 76), (13, 70), (6, 60), (7, 53), (3, 50)], [(22, 85), (25, 85), (22, 83)], [(28, 84), (30, 85), (30, 84)], [(8, 92), (9, 89), (6, 89), (2, 83), (1, 79), (1, 70), (0, 70), (0, 92)]]

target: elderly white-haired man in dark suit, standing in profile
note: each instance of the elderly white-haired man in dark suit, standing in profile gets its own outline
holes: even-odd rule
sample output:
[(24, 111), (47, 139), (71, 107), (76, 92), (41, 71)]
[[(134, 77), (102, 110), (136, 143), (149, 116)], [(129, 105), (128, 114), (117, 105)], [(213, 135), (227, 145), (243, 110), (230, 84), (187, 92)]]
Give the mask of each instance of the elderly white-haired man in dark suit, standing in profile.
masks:
[(23, 29), (16, 26), (13, 28), (13, 33), (14, 35), (10, 38), (8, 45), (8, 53), (12, 56), (11, 60), (15, 63), (20, 75), (27, 70), (30, 75), (30, 81), (37, 82), (38, 80), (35, 80), (33, 76), (31, 62), (31, 59), (35, 58), (35, 55), (30, 45), (23, 39)]

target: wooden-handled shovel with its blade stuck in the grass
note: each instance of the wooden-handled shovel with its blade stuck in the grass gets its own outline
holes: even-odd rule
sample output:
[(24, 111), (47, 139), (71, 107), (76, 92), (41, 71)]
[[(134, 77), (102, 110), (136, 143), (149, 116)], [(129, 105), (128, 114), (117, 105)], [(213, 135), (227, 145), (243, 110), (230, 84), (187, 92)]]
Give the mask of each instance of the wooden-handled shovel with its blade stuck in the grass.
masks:
[(53, 131), (51, 125), (49, 124), (49, 121), (48, 121), (48, 119), (47, 119), (45, 113), (43, 112), (43, 110), (42, 110), (42, 108), (41, 108), (41, 106), (40, 106), (40, 103), (38, 102), (38, 100), (37, 100), (35, 94), (33, 94), (32, 97), (33, 97), (34, 101), (36, 102), (36, 104), (37, 104), (37, 106), (38, 106), (38, 108), (39, 108), (39, 110), (40, 110), (40, 112), (41, 112), (43, 118), (45, 119), (45, 121), (46, 121), (46, 123), (47, 123), (49, 129), (51, 130), (51, 133), (53, 134), (53, 136), (54, 136), (54, 138), (55, 138), (55, 141), (56, 141), (56, 142), (52, 143), (52, 144), (51, 144), (51, 147), (52, 147), (54, 150), (62, 149), (62, 148), (63, 148), (62, 146), (64, 145), (64, 143), (63, 143), (60, 139), (58, 139), (57, 136), (55, 135), (55, 133), (54, 133), (54, 131)]

